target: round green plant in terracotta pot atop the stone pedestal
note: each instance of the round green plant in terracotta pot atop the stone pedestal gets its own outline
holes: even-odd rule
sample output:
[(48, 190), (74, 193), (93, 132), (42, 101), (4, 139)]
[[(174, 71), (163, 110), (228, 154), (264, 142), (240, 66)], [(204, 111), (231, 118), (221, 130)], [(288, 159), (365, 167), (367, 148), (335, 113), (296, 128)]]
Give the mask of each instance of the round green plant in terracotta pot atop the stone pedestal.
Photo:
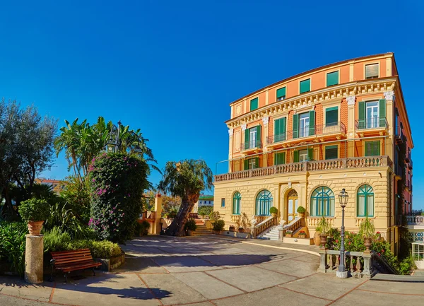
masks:
[(30, 235), (40, 235), (42, 223), (50, 213), (49, 204), (46, 200), (29, 199), (19, 206), (19, 214), (28, 223)]

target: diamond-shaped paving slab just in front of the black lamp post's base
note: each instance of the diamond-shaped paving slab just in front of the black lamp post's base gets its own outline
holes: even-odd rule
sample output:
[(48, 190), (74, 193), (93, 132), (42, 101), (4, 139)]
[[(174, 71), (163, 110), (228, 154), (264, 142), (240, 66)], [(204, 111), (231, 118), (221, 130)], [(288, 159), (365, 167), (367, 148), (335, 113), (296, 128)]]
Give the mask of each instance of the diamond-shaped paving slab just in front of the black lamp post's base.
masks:
[(329, 300), (336, 300), (336, 298), (352, 290), (360, 283), (365, 282), (363, 278), (337, 278), (335, 274), (317, 273), (312, 276), (300, 278), (290, 283), (281, 285), (282, 288), (288, 288), (300, 293), (306, 293), (317, 296), (319, 298), (326, 298)]

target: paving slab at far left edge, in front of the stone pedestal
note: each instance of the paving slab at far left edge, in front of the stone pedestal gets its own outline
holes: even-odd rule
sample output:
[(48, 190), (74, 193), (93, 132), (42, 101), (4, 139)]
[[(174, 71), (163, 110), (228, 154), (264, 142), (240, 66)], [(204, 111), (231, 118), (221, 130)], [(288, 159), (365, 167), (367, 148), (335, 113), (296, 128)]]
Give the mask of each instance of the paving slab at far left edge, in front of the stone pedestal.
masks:
[(18, 277), (0, 276), (0, 293), (48, 302), (53, 283), (44, 283), (43, 285), (25, 283), (23, 279)]

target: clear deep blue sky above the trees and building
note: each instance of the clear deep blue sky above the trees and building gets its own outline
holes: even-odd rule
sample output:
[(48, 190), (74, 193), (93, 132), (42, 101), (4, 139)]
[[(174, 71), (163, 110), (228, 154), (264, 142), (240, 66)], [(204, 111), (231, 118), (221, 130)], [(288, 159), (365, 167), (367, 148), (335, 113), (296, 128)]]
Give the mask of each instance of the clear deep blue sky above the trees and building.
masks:
[[(163, 167), (228, 158), (228, 104), (343, 59), (394, 52), (424, 208), (422, 1), (3, 1), (0, 96), (59, 119), (141, 128)], [(45, 173), (66, 176), (63, 155)], [(160, 180), (158, 173), (151, 181)]]

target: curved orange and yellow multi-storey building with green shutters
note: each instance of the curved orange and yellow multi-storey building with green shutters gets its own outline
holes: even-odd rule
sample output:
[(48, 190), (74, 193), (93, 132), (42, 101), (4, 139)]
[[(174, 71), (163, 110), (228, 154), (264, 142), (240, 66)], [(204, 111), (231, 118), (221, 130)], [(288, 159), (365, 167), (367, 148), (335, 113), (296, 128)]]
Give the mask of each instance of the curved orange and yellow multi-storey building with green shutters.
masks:
[(228, 173), (214, 193), (227, 226), (241, 214), (264, 220), (271, 206), (290, 222), (303, 206), (310, 237), (322, 216), (340, 228), (344, 188), (346, 230), (372, 218), (396, 252), (412, 210), (413, 141), (394, 54), (300, 73), (230, 109)]

